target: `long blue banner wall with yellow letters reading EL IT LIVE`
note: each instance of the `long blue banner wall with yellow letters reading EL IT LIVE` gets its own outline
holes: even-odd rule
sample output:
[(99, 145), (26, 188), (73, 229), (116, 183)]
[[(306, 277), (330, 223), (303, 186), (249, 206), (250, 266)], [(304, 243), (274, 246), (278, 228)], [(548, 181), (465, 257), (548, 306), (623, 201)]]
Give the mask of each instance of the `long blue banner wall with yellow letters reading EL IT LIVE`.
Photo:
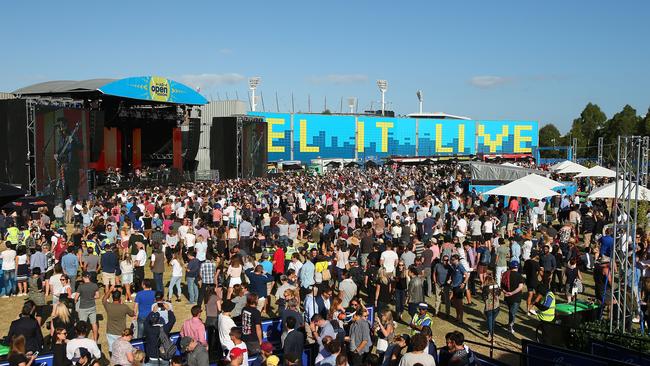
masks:
[(536, 121), (250, 112), (267, 123), (269, 161), (533, 154)]

